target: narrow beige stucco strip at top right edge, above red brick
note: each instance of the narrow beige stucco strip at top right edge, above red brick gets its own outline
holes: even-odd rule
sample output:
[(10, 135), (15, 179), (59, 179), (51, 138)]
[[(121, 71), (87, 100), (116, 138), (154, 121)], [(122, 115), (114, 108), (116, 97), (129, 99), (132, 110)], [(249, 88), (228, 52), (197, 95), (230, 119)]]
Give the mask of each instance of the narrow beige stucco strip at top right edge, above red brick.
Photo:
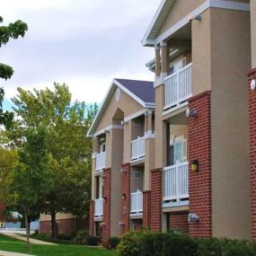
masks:
[(251, 0), (252, 68), (256, 67), (256, 1)]

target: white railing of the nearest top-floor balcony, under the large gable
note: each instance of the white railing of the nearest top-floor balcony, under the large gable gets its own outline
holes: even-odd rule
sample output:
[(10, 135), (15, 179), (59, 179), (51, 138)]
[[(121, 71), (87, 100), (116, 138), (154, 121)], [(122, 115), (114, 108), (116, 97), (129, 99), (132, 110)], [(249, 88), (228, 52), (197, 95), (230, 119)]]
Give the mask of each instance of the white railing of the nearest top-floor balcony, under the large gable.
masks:
[(192, 95), (191, 74), (192, 63), (165, 77), (164, 110), (177, 106), (190, 98)]

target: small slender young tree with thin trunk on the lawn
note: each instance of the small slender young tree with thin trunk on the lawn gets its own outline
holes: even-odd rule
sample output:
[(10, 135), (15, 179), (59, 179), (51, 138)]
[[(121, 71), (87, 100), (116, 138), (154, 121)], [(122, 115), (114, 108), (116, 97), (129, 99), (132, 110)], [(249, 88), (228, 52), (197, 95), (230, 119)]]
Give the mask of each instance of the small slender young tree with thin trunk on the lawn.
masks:
[[(40, 204), (53, 185), (49, 169), (49, 155), (47, 153), (47, 133), (44, 128), (28, 129), (25, 134), (26, 142), (19, 150), (17, 164), (8, 188), (13, 199), (9, 204), (22, 209), (25, 218), (27, 243), (30, 246), (29, 218), (35, 207)], [(37, 208), (38, 211), (42, 208)]]

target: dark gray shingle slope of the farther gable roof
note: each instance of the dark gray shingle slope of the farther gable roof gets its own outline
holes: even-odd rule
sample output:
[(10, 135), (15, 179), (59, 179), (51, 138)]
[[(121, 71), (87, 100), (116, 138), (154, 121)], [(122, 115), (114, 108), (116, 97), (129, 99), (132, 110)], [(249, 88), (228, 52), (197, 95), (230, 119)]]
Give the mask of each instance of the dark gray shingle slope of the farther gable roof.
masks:
[(154, 103), (154, 83), (149, 81), (119, 79), (116, 80), (134, 93), (143, 102)]

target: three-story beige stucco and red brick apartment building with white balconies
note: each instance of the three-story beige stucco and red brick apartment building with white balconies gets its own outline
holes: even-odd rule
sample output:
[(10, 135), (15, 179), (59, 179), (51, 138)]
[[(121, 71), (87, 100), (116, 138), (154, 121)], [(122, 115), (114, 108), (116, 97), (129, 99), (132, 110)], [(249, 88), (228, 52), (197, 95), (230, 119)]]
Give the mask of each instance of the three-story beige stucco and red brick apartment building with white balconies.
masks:
[[(155, 52), (146, 64), (154, 84), (137, 82), (131, 89), (126, 80), (114, 80), (89, 134), (90, 232), (102, 234), (104, 243), (141, 225), (196, 237), (256, 238), (256, 1), (251, 2), (160, 4), (142, 40)], [(136, 86), (143, 95), (153, 90), (151, 108), (136, 97), (128, 103), (114, 96), (119, 89), (129, 95)], [(142, 161), (133, 157), (140, 137)]]

